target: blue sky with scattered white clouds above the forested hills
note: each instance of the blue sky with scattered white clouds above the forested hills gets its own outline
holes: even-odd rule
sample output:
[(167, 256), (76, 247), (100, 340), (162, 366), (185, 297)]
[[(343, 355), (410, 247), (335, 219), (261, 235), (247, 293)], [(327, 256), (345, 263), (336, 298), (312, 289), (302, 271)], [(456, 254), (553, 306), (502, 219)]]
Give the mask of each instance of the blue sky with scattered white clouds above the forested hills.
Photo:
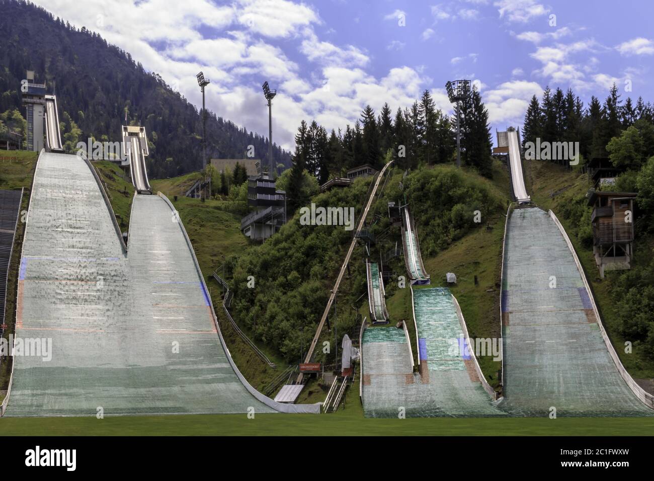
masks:
[[(195, 105), (267, 135), (261, 84), (277, 88), (273, 140), (292, 149), (301, 120), (353, 124), (366, 104), (408, 107), (445, 82), (475, 81), (493, 128), (522, 124), (543, 88), (584, 101), (654, 101), (654, 3), (538, 0), (37, 0), (130, 52)], [(630, 90), (630, 91), (629, 91)]]

